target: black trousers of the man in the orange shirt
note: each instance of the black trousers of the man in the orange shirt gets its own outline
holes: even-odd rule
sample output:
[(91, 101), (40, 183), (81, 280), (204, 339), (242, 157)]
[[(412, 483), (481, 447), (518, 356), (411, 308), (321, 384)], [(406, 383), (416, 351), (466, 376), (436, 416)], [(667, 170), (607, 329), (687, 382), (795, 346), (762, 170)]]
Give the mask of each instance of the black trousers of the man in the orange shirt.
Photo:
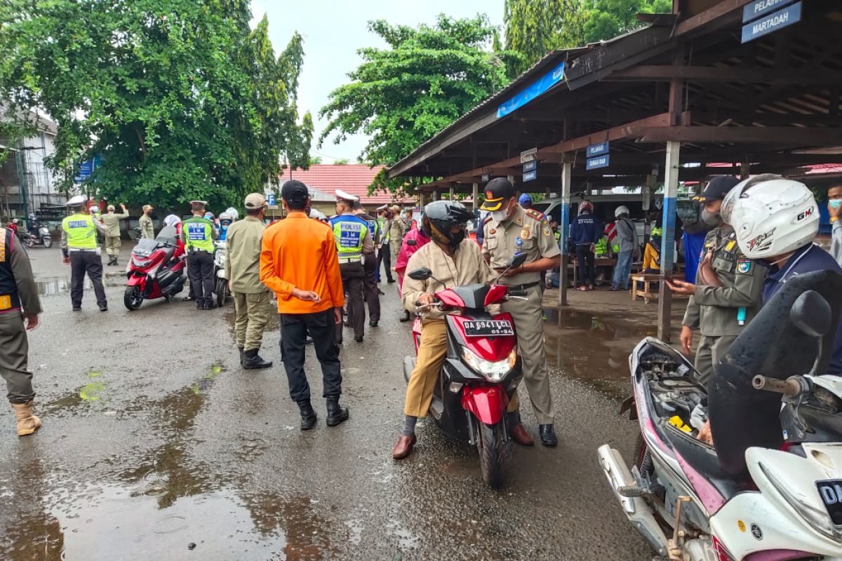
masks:
[(342, 372), (333, 331), (333, 308), (315, 314), (281, 314), (280, 325), (280, 358), (284, 362), (292, 400), (297, 403), (310, 400), (310, 384), (304, 373), (308, 333), (312, 337), (318, 362), (322, 364), (322, 395), (338, 398), (342, 394)]

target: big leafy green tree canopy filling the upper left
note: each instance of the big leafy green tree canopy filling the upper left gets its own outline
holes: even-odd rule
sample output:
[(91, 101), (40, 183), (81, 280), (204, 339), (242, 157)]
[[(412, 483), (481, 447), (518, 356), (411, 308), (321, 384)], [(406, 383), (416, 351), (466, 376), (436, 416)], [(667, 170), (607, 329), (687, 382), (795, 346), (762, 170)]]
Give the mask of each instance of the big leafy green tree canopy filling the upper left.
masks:
[(248, 0), (6, 0), (0, 98), (6, 119), (41, 108), (59, 124), (49, 164), (68, 188), (101, 155), (88, 191), (167, 208), (236, 204), (306, 166), (297, 122), (301, 35), (274, 56)]

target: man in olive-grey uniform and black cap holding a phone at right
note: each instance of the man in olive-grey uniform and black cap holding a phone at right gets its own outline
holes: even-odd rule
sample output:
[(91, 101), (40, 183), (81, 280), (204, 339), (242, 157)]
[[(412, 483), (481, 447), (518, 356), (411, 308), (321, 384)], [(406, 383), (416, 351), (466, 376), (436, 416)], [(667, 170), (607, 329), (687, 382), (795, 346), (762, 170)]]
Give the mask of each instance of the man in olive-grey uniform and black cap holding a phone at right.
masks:
[(765, 267), (743, 255), (734, 229), (719, 214), (722, 198), (737, 183), (734, 177), (714, 177), (695, 197), (705, 205), (701, 220), (713, 229), (705, 237), (695, 284), (675, 279), (670, 286), (676, 294), (690, 294), (681, 322), (681, 346), (689, 355), (693, 330), (701, 332), (694, 366), (702, 384), (707, 384), (713, 365), (754, 318), (763, 299)]

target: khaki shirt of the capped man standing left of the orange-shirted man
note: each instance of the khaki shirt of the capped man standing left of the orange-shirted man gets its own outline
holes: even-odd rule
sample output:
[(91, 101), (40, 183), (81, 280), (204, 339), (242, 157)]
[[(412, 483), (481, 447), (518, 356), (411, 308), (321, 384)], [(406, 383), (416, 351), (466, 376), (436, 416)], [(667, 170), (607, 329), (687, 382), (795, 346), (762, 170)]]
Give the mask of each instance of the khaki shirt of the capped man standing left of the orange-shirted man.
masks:
[(264, 223), (253, 216), (228, 226), (225, 276), (231, 281), (233, 292), (269, 292), (269, 288), (260, 282), (260, 247), (264, 230)]

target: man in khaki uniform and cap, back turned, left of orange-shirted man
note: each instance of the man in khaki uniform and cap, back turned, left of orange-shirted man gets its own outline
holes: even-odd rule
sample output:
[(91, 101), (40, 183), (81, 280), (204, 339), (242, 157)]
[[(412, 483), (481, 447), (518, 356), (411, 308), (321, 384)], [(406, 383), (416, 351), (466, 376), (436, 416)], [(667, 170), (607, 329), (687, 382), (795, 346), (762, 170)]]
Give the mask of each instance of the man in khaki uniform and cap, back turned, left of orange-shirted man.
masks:
[(234, 295), (234, 332), (242, 368), (269, 368), (271, 362), (258, 355), (263, 332), (269, 323), (272, 302), (269, 288), (260, 282), (260, 244), (263, 242), (266, 198), (250, 193), (245, 201), (246, 218), (228, 226), (225, 276)]

